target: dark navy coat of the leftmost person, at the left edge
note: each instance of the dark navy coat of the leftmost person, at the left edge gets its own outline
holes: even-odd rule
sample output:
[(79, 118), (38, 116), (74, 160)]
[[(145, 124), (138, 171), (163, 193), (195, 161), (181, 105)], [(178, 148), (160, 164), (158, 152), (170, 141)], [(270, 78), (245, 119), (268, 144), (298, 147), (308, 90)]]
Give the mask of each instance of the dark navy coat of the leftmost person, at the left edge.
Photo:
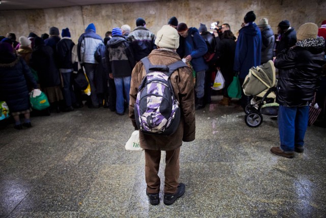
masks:
[(7, 103), (10, 112), (30, 109), (26, 80), (37, 88), (30, 67), (21, 57), (13, 57), (10, 63), (0, 63), (0, 100)]

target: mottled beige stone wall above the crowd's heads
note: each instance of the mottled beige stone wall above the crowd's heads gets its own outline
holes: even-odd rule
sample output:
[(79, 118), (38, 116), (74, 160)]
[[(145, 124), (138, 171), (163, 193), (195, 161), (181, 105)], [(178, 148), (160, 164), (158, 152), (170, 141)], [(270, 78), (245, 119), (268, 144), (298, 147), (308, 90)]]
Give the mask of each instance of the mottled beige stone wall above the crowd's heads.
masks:
[(77, 41), (89, 23), (93, 22), (97, 33), (104, 37), (106, 31), (128, 24), (135, 28), (135, 19), (143, 17), (146, 26), (154, 34), (172, 16), (188, 27), (199, 27), (205, 23), (207, 28), (216, 20), (229, 23), (236, 33), (240, 29), (244, 15), (253, 10), (256, 21), (266, 17), (276, 32), (278, 23), (288, 19), (292, 27), (299, 28), (305, 22), (315, 22), (318, 26), (326, 19), (326, 1), (310, 0), (177, 0), (139, 3), (118, 3), (65, 8), (0, 11), (0, 35), (14, 32), (17, 36), (48, 33), (51, 26), (68, 27), (73, 41)]

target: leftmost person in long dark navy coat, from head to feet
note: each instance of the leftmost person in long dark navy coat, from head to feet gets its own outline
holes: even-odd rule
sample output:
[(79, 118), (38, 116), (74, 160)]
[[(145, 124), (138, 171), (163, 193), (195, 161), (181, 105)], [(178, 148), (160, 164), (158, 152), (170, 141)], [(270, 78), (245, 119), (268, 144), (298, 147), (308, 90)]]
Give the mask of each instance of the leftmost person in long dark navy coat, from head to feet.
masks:
[[(0, 100), (7, 103), (17, 130), (21, 130), (22, 126), (32, 127), (28, 82), (32, 88), (37, 88), (30, 67), (24, 59), (13, 54), (11, 44), (0, 43)], [(23, 124), (20, 123), (19, 114), (24, 114)]]

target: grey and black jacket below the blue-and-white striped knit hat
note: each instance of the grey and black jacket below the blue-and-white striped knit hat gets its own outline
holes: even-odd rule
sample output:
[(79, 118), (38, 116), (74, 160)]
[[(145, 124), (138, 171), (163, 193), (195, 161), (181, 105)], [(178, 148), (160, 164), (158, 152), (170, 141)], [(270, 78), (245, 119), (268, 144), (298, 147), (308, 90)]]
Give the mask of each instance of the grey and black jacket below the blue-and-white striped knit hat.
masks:
[(114, 36), (106, 44), (106, 63), (113, 77), (129, 77), (135, 65), (133, 51), (123, 36)]

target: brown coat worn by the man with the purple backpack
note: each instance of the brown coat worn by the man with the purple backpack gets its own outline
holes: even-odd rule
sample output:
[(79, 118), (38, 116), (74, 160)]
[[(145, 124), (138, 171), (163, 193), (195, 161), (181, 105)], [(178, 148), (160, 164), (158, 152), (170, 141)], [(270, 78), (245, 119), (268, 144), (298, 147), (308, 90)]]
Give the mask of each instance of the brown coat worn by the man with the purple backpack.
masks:
[[(170, 65), (181, 60), (177, 53), (161, 49), (153, 50), (148, 58), (153, 65)], [(129, 117), (134, 127), (137, 127), (134, 119), (134, 104), (138, 87), (145, 76), (145, 67), (140, 61), (135, 65), (131, 74)], [(170, 136), (148, 135), (140, 132), (140, 143), (144, 149), (170, 151), (179, 148), (182, 141), (195, 140), (195, 97), (192, 70), (189, 67), (179, 68), (171, 75), (170, 79), (181, 108), (179, 127)]]

